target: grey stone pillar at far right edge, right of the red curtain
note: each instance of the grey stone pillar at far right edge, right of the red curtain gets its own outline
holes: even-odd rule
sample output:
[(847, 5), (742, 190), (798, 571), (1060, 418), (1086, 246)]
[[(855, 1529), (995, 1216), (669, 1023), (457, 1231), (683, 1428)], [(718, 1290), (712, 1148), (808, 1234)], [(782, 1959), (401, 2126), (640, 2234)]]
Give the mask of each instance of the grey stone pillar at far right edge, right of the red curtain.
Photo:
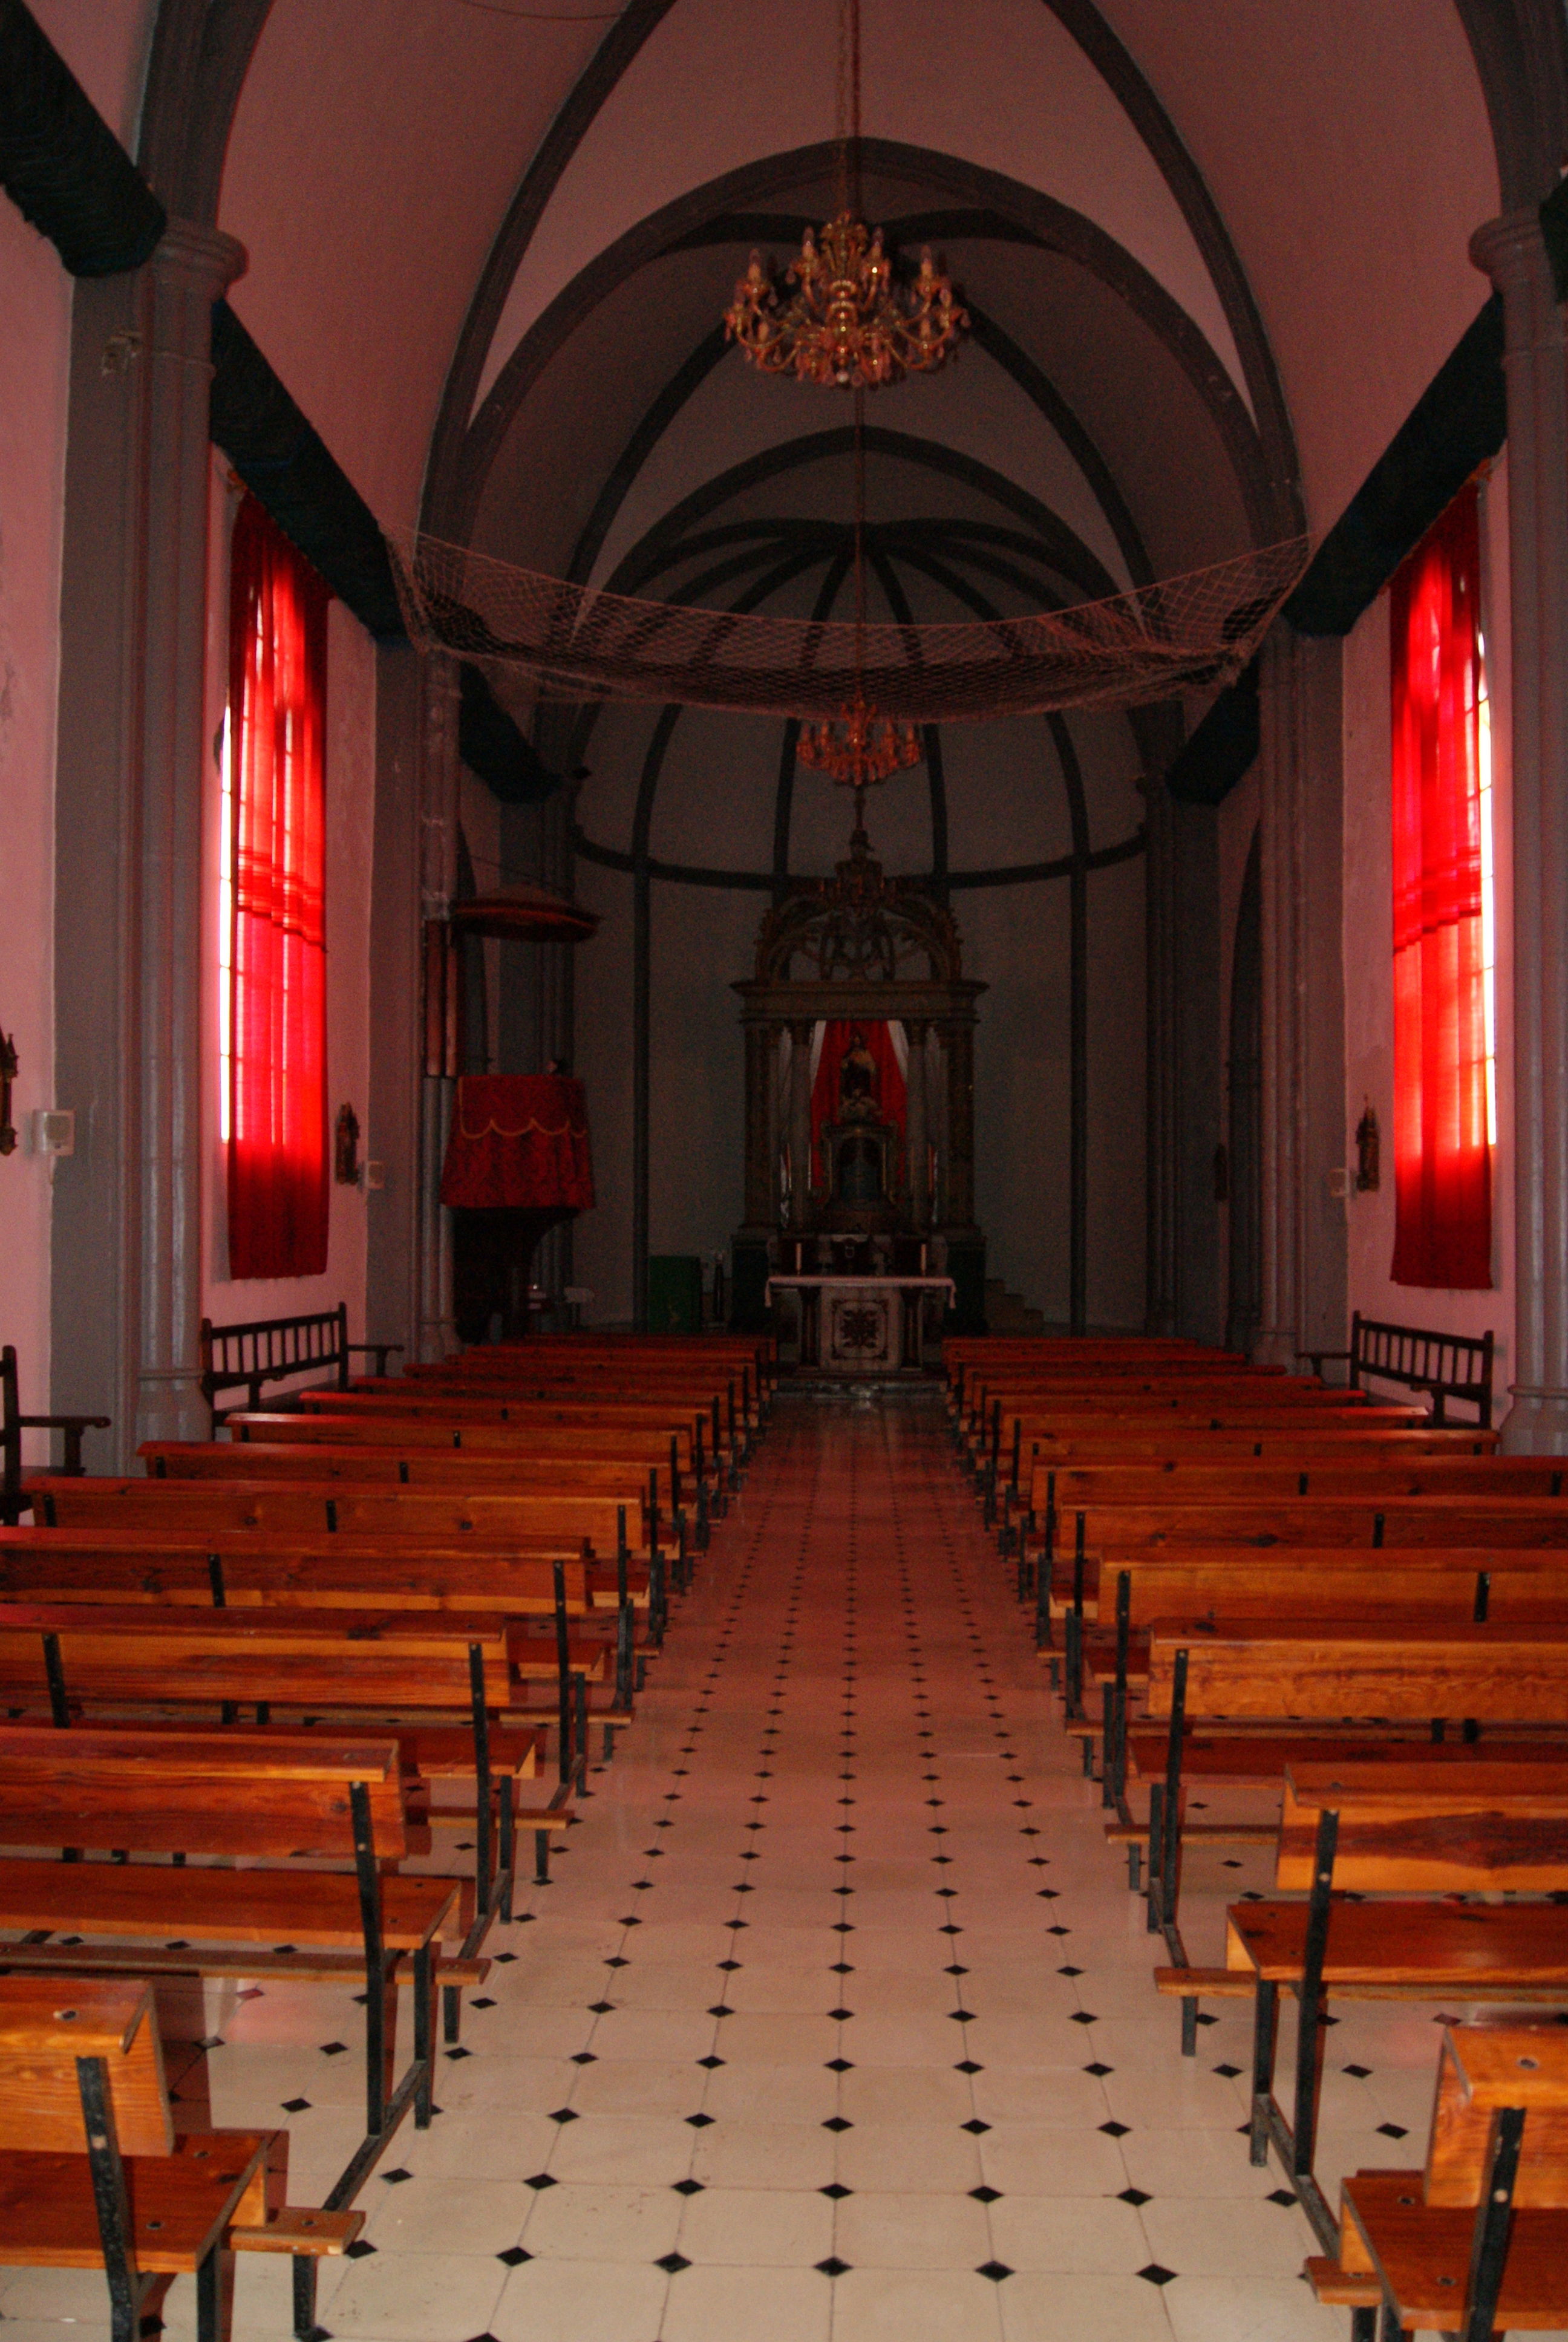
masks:
[(1477, 230), (1502, 293), (1514, 780), (1514, 1405), (1502, 1445), (1568, 1454), (1568, 372), (1533, 208)]

